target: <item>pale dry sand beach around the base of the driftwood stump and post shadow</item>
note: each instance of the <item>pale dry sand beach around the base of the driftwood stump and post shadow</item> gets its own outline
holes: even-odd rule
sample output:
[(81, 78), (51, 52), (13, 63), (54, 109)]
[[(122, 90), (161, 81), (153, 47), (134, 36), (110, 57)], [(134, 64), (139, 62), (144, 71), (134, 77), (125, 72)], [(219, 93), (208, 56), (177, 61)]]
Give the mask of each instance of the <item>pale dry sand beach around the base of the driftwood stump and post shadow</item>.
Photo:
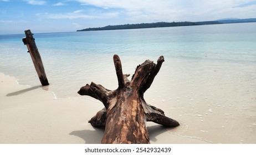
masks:
[[(19, 85), (14, 77), (0, 73), (1, 144), (97, 144), (104, 130), (88, 120), (103, 108), (98, 102), (80, 99), (54, 99), (40, 86)], [(182, 137), (152, 122), (147, 122), (152, 144), (208, 143)]]

